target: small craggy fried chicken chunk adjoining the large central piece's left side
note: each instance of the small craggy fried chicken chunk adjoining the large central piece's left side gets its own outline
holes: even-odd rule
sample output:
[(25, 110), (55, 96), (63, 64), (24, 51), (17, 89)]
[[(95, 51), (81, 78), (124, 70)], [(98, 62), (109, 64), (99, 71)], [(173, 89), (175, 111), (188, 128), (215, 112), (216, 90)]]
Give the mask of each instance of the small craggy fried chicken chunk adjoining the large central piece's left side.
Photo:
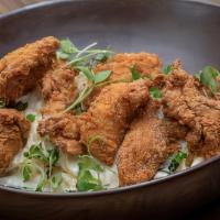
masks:
[(75, 116), (61, 113), (40, 122), (37, 131), (40, 135), (48, 135), (50, 140), (64, 152), (79, 155), (85, 152), (79, 143), (79, 124)]

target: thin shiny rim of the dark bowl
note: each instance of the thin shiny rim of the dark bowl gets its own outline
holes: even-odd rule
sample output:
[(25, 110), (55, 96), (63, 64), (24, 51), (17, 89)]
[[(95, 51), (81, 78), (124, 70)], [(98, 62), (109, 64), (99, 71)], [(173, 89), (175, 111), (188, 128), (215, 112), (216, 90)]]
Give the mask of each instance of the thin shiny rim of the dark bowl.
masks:
[[(88, 0), (50, 0), (50, 1), (43, 1), (43, 2), (37, 2), (33, 3), (31, 6), (25, 6), (20, 9), (12, 10), (11, 12), (0, 14), (0, 22), (1, 20), (8, 19), (10, 16), (20, 14), (20, 13), (25, 13), (28, 11), (37, 9), (37, 8), (44, 8), (44, 7), (51, 7), (54, 4), (59, 4), (59, 3), (67, 3), (67, 2), (86, 2)], [(91, 1), (91, 0), (90, 0)], [(213, 8), (220, 8), (220, 4), (215, 3), (215, 2), (204, 2), (202, 0), (178, 0), (179, 2), (183, 3), (195, 3), (195, 4), (204, 4), (207, 7), (213, 7)], [(170, 182), (174, 180), (175, 178), (183, 177), (190, 175), (191, 173), (196, 170), (200, 170), (201, 168), (205, 168), (211, 164), (217, 163), (220, 161), (220, 155), (215, 156), (210, 160), (207, 160), (205, 162), (201, 162), (190, 168), (187, 168), (185, 170), (168, 175), (166, 177), (157, 178), (157, 179), (152, 179), (150, 182), (144, 182), (140, 184), (134, 184), (131, 186), (123, 186), (123, 187), (117, 187), (108, 190), (99, 190), (99, 191), (73, 191), (73, 193), (40, 193), (40, 191), (33, 191), (33, 190), (26, 190), (22, 188), (15, 188), (11, 186), (4, 186), (0, 185), (0, 191), (8, 191), (8, 193), (14, 193), (14, 194), (20, 194), (20, 195), (25, 195), (25, 196), (34, 196), (34, 197), (74, 197), (74, 198), (84, 198), (84, 197), (97, 197), (97, 196), (106, 196), (106, 195), (116, 195), (120, 193), (125, 193), (125, 191), (131, 191), (135, 189), (141, 189), (147, 186), (156, 185), (156, 184), (162, 184), (164, 182)]]

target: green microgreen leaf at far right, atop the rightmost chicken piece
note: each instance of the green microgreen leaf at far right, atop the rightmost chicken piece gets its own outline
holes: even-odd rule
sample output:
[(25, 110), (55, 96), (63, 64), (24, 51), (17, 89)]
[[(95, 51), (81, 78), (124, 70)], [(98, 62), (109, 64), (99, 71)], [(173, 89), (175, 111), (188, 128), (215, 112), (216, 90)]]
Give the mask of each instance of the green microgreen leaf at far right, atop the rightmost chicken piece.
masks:
[(202, 70), (197, 73), (195, 77), (205, 86), (207, 86), (212, 94), (218, 90), (217, 77), (220, 75), (219, 70), (212, 66), (206, 66)]

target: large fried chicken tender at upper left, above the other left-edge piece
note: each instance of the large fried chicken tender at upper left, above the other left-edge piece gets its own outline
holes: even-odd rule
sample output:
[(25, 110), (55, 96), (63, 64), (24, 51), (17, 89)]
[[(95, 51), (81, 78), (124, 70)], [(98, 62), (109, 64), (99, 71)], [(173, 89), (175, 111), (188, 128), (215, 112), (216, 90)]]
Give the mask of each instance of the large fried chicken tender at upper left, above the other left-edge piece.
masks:
[(58, 40), (48, 36), (26, 44), (0, 59), (0, 98), (15, 101), (32, 90), (51, 68), (58, 46)]

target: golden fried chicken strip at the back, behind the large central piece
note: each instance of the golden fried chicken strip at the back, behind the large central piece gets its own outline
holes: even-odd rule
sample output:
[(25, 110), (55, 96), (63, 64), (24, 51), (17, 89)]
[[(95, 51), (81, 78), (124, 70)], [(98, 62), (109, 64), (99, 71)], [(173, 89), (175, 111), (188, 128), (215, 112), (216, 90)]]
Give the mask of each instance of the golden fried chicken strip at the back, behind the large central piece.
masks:
[[(95, 74), (102, 70), (112, 70), (109, 80), (131, 80), (131, 68), (136, 66), (141, 76), (154, 78), (162, 73), (162, 62), (156, 54), (148, 53), (124, 53), (116, 54), (110, 57), (106, 63), (97, 65), (94, 69)], [(90, 102), (100, 94), (103, 87), (96, 88), (85, 105), (89, 107)]]

